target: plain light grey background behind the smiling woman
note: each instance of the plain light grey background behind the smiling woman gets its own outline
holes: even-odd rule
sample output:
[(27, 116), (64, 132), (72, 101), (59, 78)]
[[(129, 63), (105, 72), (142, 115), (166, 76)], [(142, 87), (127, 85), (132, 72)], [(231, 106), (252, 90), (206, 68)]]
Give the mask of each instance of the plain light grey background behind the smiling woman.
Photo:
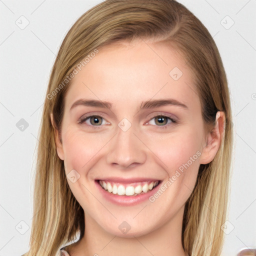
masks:
[[(35, 147), (50, 70), (68, 29), (99, 2), (0, 0), (0, 256), (28, 250)], [(208, 28), (228, 78), (235, 150), (222, 256), (236, 255), (256, 247), (256, 1), (179, 2)], [(28, 123), (23, 131), (16, 126), (21, 118)]]

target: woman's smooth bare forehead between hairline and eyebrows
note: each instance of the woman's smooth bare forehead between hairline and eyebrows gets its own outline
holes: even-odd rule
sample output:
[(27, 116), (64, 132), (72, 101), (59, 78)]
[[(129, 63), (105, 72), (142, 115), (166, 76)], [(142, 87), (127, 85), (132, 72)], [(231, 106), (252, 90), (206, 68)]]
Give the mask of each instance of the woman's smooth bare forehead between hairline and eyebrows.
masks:
[[(163, 42), (119, 41), (98, 48), (98, 53), (72, 78), (65, 97), (88, 97), (122, 105), (152, 97), (172, 97), (187, 102), (196, 88), (184, 57)], [(199, 98), (198, 98), (199, 100)]]

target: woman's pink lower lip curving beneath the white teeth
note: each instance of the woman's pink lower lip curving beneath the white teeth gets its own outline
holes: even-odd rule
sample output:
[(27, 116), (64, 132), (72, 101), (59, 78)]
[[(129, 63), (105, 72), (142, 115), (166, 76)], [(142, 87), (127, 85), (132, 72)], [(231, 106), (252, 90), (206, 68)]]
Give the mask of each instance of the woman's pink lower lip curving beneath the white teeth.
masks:
[(117, 205), (122, 206), (132, 206), (136, 205), (142, 201), (148, 200), (148, 198), (155, 193), (155, 191), (158, 189), (159, 184), (161, 181), (159, 181), (158, 185), (155, 186), (152, 190), (149, 190), (146, 193), (138, 194), (138, 195), (118, 195), (109, 193), (107, 190), (105, 190), (98, 181), (95, 180), (96, 187), (99, 189), (102, 196), (107, 199), (108, 201), (115, 203)]

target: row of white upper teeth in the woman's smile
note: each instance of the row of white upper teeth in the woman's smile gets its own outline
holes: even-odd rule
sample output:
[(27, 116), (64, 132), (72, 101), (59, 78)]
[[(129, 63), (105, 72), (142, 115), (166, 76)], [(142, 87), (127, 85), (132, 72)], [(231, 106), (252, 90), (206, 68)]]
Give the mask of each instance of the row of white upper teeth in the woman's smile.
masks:
[(128, 184), (126, 187), (122, 184), (110, 183), (108, 181), (99, 180), (99, 184), (107, 190), (109, 193), (118, 194), (118, 195), (137, 195), (141, 192), (146, 193), (148, 190), (151, 190), (158, 184), (158, 181), (140, 182), (140, 184), (132, 185)]

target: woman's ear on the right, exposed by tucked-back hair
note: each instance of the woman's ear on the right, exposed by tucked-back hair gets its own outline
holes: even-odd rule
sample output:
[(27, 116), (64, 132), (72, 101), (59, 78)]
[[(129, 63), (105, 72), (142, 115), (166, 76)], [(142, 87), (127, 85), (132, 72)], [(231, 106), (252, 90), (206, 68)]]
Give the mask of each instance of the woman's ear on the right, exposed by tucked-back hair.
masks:
[(217, 111), (215, 125), (213, 129), (206, 135), (207, 143), (202, 148), (202, 153), (199, 162), (202, 164), (209, 163), (216, 155), (221, 144), (225, 127), (225, 113)]

